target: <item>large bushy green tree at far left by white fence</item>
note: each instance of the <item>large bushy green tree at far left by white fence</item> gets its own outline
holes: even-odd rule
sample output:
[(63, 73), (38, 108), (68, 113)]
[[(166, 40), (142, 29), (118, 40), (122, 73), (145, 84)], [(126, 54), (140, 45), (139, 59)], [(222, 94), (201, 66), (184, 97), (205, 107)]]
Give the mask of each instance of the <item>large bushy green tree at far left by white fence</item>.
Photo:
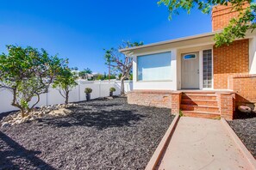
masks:
[[(22, 117), (40, 101), (66, 61), (33, 47), (7, 46), (8, 54), (0, 55), (0, 88), (13, 94), (12, 106), (21, 110)], [(33, 97), (37, 100), (31, 104)]]

